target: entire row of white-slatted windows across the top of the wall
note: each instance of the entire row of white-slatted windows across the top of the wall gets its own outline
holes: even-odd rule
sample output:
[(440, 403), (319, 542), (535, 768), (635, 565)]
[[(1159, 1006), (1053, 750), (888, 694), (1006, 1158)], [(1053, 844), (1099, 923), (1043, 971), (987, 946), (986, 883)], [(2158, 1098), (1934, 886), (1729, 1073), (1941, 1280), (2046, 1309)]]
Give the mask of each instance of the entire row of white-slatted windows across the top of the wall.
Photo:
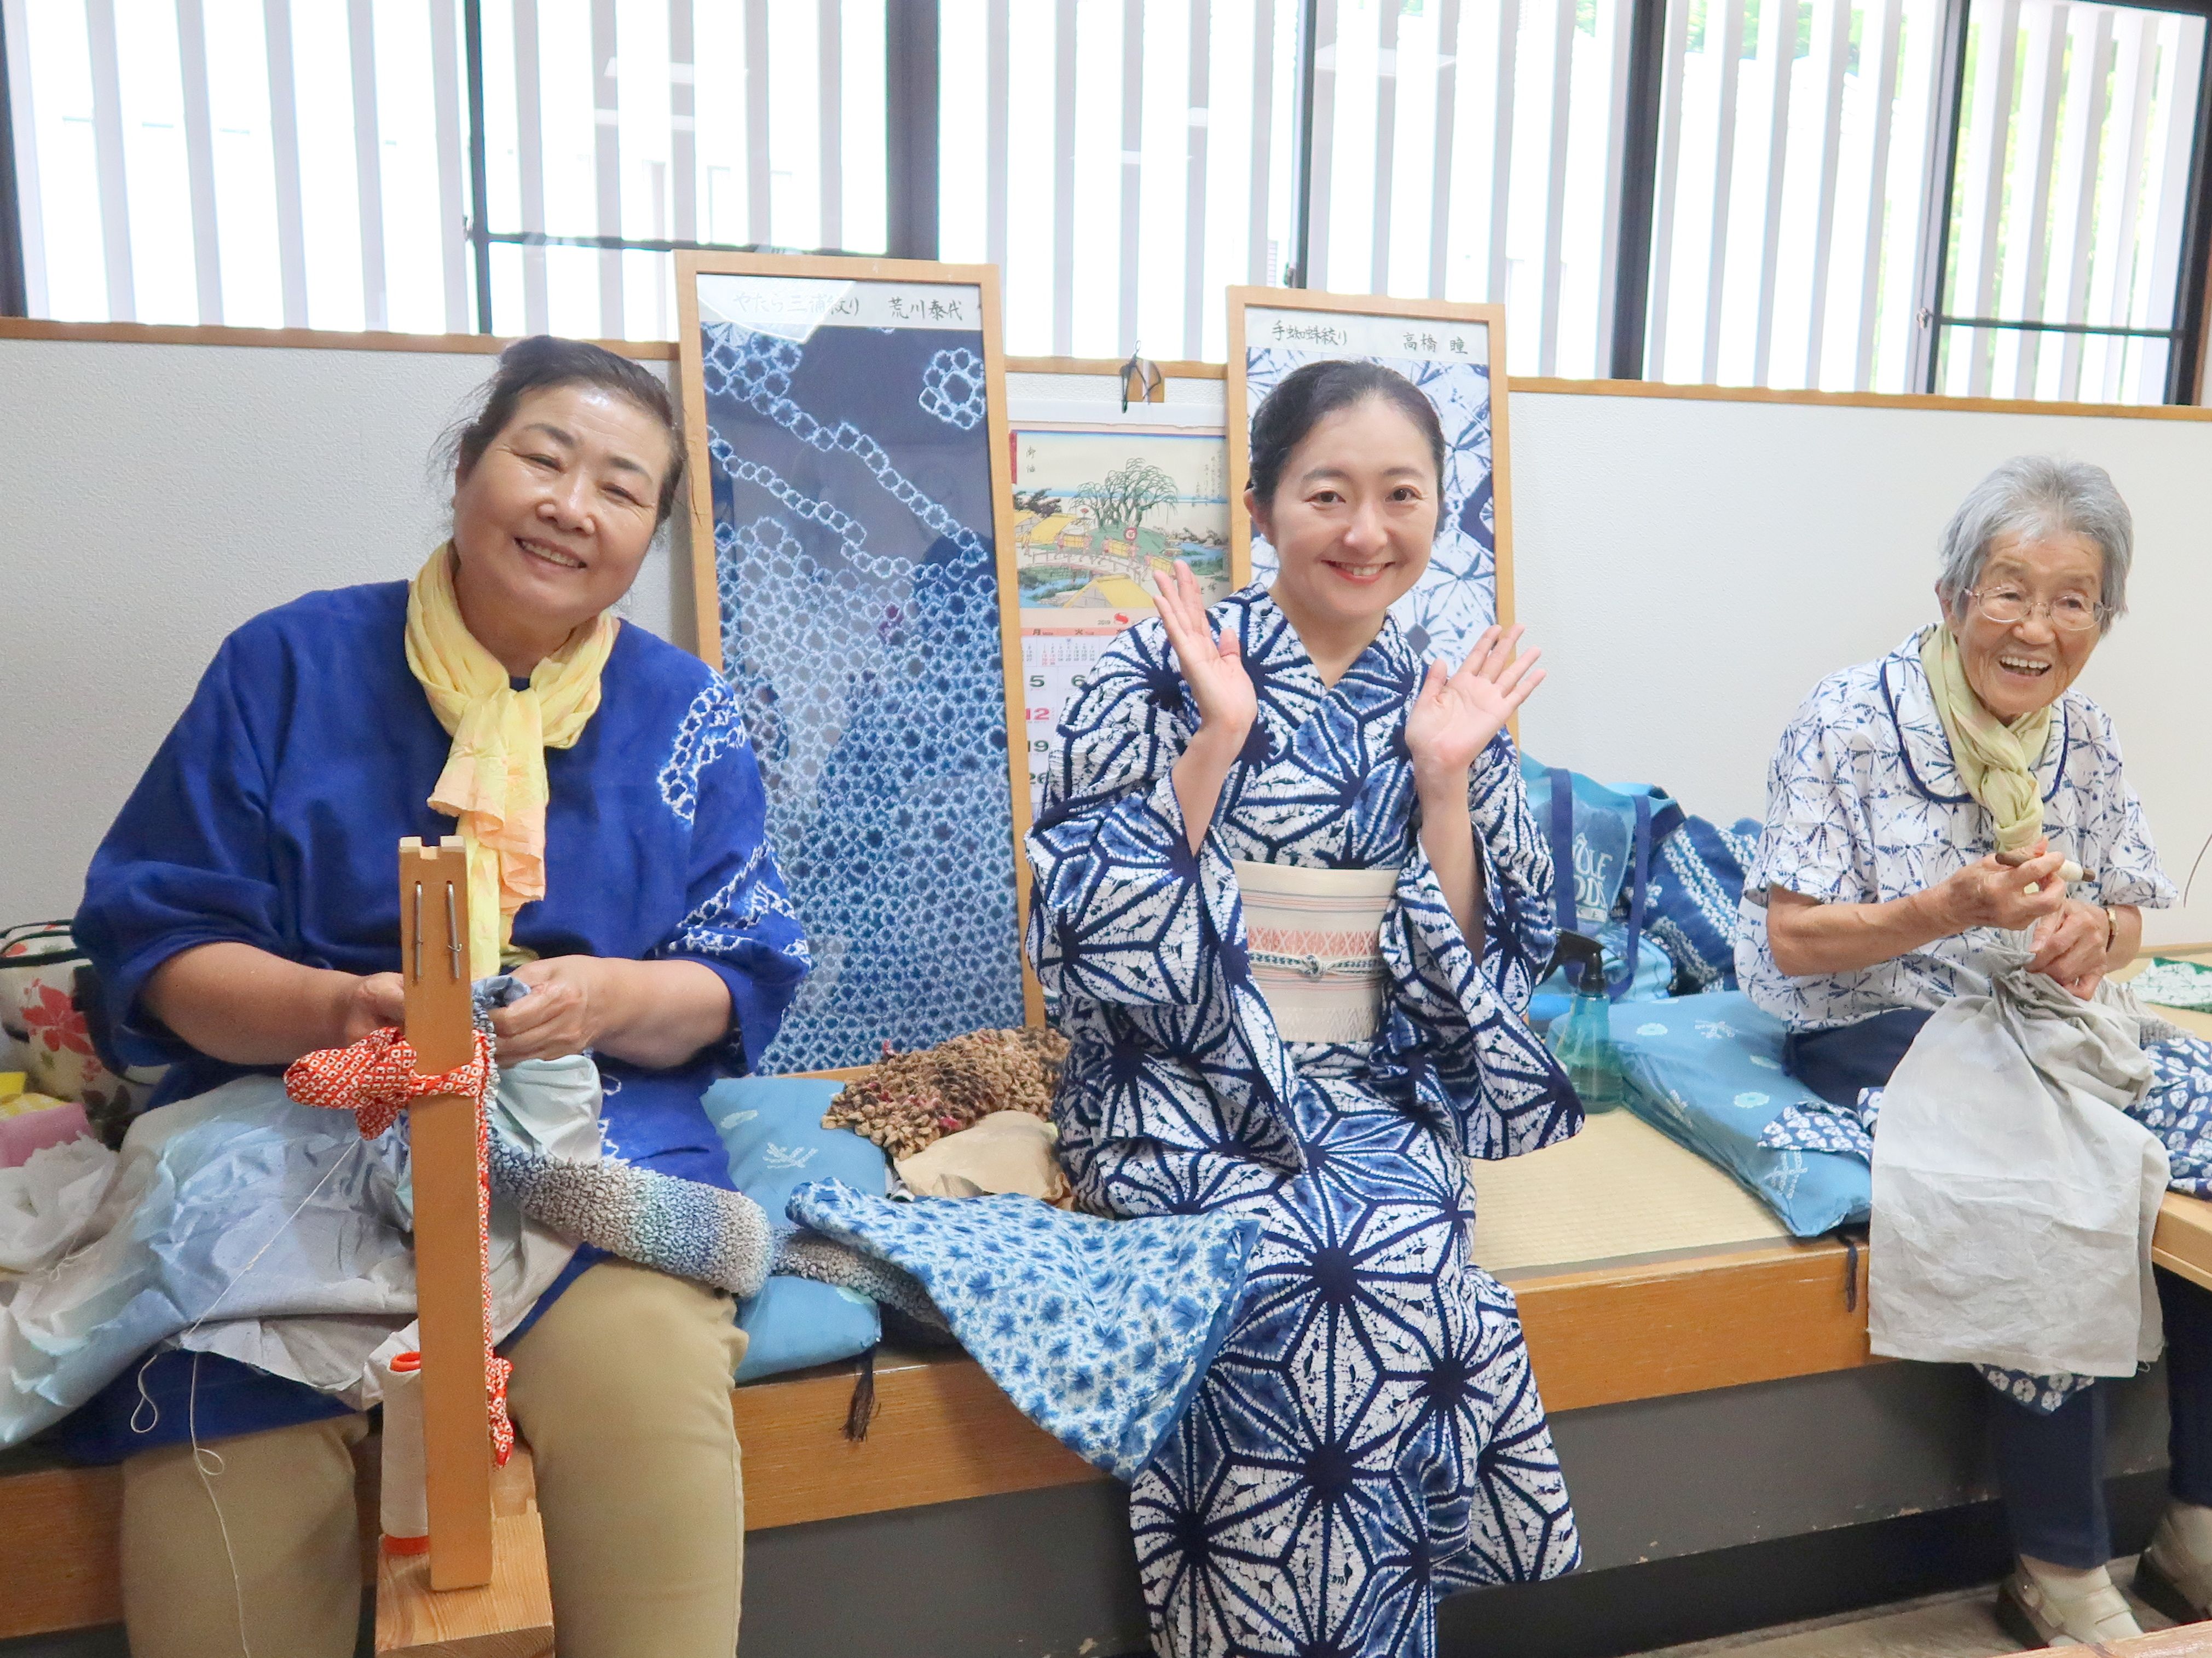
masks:
[(2208, 11), (7, 0), (0, 237), (60, 319), (668, 339), (675, 248), (889, 250), (1015, 354), (1307, 283), (1502, 301), (1515, 374), (2192, 401)]

